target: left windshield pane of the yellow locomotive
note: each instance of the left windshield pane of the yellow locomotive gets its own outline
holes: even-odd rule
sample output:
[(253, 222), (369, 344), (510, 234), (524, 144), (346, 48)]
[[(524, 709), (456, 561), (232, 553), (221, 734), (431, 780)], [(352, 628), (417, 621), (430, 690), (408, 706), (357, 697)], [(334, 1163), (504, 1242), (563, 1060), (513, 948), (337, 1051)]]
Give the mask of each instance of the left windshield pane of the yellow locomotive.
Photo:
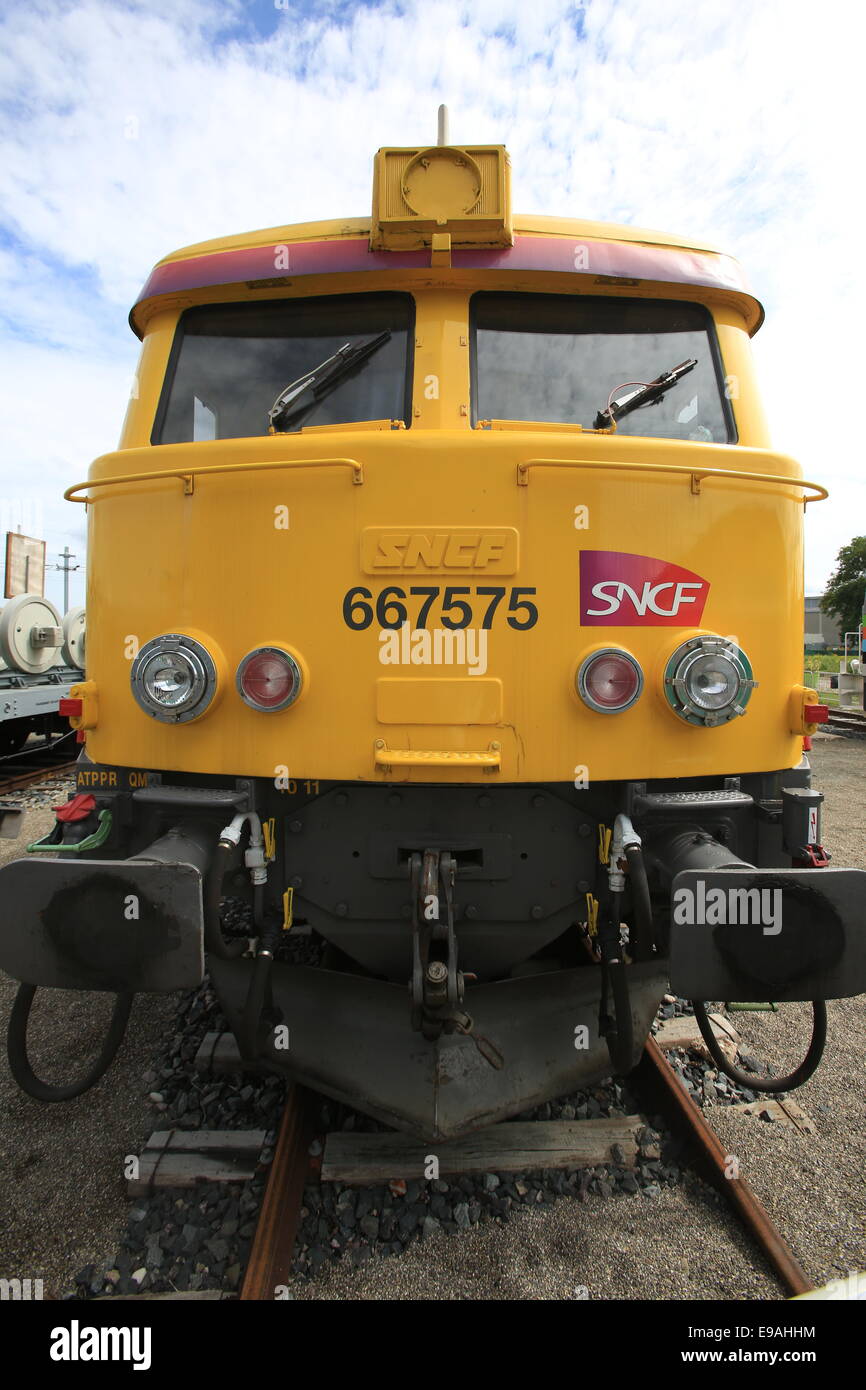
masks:
[(289, 382), (346, 345), (363, 345), (377, 334), (391, 336), (282, 428), (361, 420), (409, 425), (413, 314), (409, 295), (188, 309), (178, 325), (153, 442), (265, 435), (268, 411)]

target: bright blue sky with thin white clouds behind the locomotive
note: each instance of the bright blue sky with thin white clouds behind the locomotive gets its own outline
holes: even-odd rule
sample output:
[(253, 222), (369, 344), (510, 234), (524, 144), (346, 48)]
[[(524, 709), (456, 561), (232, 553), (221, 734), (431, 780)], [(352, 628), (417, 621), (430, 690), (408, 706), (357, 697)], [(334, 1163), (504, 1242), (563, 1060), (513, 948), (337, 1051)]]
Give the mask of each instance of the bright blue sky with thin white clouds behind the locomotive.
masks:
[[(178, 246), (370, 208), (382, 145), (505, 143), (513, 203), (737, 256), (774, 446), (831, 498), (806, 591), (866, 534), (853, 425), (866, 11), (849, 0), (4, 0), (0, 531), (68, 545), (117, 446), (126, 324)], [(57, 570), (46, 592), (63, 606)], [(83, 569), (71, 603), (83, 602)]]

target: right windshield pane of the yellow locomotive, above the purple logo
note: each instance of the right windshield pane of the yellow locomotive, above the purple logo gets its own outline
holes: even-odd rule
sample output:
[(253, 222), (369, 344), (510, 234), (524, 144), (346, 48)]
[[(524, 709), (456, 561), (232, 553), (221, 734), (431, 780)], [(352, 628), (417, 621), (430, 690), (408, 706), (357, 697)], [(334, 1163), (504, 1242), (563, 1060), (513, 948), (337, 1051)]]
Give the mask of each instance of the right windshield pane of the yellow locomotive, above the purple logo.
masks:
[(478, 293), (471, 300), (473, 423), (538, 420), (592, 430), (626, 382), (652, 382), (687, 359), (694, 370), (617, 434), (728, 443), (712, 318), (701, 304), (578, 295)]

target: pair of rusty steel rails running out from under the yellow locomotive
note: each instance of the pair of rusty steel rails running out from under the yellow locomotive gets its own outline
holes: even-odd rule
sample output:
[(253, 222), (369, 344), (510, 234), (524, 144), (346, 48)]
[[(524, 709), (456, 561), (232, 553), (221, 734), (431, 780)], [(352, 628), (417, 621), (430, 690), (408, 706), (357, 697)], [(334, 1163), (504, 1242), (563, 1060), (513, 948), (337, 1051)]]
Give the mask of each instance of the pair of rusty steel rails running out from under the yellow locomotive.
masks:
[[(645, 1109), (664, 1118), (671, 1133), (687, 1145), (699, 1175), (726, 1198), (788, 1297), (813, 1289), (746, 1179), (728, 1176), (730, 1155), (726, 1154), (724, 1145), (702, 1112), (689, 1099), (655, 1038), (648, 1038), (641, 1063), (631, 1080), (638, 1093), (646, 1098)], [(299, 1086), (291, 1087), (240, 1287), (242, 1301), (271, 1301), (278, 1297), (277, 1290), (288, 1283), (304, 1183), (314, 1166), (310, 1156), (311, 1112), (309, 1093)], [(493, 1162), (491, 1168), (495, 1170)]]

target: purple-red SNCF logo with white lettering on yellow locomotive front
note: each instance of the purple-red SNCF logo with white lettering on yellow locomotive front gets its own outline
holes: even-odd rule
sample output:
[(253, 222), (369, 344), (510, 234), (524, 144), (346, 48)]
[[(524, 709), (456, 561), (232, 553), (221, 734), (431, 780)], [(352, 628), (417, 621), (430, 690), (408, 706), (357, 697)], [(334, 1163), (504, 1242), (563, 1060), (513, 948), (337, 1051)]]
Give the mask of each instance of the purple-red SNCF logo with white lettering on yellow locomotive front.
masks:
[(584, 627), (689, 627), (699, 623), (709, 581), (670, 560), (624, 550), (581, 550)]

